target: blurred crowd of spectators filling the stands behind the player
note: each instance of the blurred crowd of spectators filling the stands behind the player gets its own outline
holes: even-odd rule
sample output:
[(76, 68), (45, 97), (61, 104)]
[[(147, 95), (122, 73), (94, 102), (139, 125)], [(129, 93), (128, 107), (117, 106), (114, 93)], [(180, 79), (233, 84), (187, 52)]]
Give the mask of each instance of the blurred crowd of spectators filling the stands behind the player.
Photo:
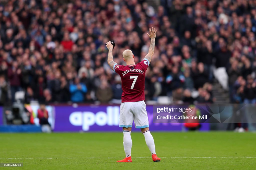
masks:
[[(255, 103), (256, 1), (1, 0), (0, 103), (120, 102), (119, 75), (106, 62), (131, 49), (135, 63), (148, 53), (148, 28), (157, 28), (146, 72), (146, 100), (214, 102), (212, 82), (231, 102)], [(197, 91), (198, 95), (191, 95)]]

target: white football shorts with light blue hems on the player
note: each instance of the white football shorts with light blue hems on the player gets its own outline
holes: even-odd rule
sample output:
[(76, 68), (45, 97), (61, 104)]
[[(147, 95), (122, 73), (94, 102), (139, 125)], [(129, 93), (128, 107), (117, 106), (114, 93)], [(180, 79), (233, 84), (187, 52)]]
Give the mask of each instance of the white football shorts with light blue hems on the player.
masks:
[(133, 121), (136, 128), (149, 127), (146, 104), (143, 100), (121, 103), (119, 127), (132, 127)]

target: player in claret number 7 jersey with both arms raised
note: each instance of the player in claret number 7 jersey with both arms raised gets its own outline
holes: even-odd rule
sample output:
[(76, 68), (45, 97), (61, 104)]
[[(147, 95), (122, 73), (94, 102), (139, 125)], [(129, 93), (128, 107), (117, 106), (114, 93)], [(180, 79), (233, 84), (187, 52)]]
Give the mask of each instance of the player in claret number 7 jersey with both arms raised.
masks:
[(134, 55), (129, 49), (126, 49), (123, 52), (123, 60), (126, 62), (126, 66), (121, 66), (114, 62), (112, 55), (113, 45), (110, 41), (106, 43), (106, 47), (109, 49), (108, 64), (112, 70), (121, 76), (123, 89), (119, 127), (123, 128), (123, 144), (126, 157), (125, 159), (116, 162), (132, 162), (131, 131), (133, 121), (135, 127), (141, 129), (141, 132), (145, 137), (146, 144), (151, 152), (153, 161), (159, 162), (161, 160), (156, 156), (155, 143), (148, 128), (148, 117), (146, 104), (144, 102), (145, 73), (154, 54), (156, 29), (149, 29), (149, 34), (147, 33), (147, 35), (151, 38), (148, 54), (137, 64), (135, 64)]

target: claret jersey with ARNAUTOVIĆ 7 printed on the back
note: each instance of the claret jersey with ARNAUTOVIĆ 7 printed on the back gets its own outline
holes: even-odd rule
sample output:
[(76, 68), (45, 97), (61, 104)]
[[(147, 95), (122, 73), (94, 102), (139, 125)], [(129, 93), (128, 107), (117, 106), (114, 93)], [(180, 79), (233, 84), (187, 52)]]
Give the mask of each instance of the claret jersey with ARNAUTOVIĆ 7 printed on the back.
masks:
[(122, 102), (145, 100), (145, 74), (148, 64), (148, 60), (144, 59), (133, 66), (114, 65), (113, 69), (122, 81)]

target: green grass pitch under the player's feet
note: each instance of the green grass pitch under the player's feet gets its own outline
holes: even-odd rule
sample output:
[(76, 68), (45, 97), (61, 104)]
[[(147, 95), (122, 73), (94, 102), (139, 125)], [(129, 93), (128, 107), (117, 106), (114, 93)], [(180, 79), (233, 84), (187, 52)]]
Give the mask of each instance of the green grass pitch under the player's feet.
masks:
[(123, 159), (123, 134), (0, 134), (0, 169), (256, 169), (256, 134), (151, 132), (161, 162), (153, 162), (144, 136), (132, 132), (132, 163)]

